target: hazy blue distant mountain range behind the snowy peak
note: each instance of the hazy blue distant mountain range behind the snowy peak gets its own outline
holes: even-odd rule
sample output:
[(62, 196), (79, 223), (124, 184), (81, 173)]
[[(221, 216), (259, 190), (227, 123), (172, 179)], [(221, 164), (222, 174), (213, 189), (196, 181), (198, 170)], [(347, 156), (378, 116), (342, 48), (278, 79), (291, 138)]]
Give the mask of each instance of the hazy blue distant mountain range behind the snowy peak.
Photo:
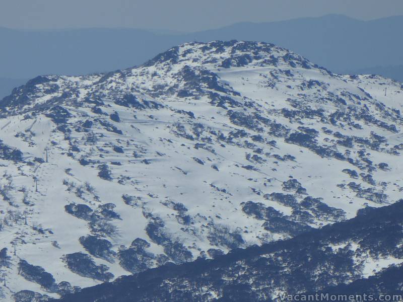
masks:
[[(140, 29), (24, 31), (0, 28), (0, 77), (28, 79), (39, 74), (116, 70), (142, 64), (159, 52), (184, 42), (237, 39), (274, 43), (333, 72), (379, 73), (401, 81), (401, 28), (403, 16), (359, 21), (341, 15), (238, 23), (195, 33)], [(3, 83), (0, 80), (0, 87), (6, 85)], [(2, 93), (0, 90), (0, 96)]]

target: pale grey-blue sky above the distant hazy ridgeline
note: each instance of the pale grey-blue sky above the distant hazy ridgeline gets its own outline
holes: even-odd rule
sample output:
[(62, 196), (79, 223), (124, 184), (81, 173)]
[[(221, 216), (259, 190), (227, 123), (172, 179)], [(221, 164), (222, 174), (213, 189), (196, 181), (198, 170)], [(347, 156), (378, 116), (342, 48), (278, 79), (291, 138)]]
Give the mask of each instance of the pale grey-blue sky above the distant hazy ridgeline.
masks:
[(129, 27), (178, 31), (342, 14), (403, 15), (402, 0), (0, 0), (0, 27)]

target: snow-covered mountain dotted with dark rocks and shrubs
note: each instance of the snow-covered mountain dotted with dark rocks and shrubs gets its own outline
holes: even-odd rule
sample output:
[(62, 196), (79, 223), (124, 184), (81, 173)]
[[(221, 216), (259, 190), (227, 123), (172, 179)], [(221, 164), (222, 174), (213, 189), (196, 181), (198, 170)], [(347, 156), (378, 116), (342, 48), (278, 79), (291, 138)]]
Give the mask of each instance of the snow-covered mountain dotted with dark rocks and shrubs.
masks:
[[(258, 42), (30, 80), (0, 102), (0, 294), (58, 297), (394, 203), (402, 107), (400, 83)], [(377, 261), (361, 274), (400, 260)]]

